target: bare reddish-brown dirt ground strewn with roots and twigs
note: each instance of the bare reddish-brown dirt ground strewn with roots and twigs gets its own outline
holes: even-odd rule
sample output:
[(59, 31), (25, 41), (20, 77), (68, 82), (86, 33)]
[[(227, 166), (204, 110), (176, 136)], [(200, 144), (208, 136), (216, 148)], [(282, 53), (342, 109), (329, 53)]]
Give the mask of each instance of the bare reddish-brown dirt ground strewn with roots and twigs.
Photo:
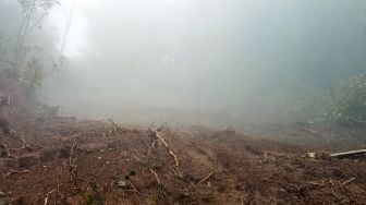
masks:
[(365, 161), (306, 158), (308, 147), (289, 143), (163, 126), (176, 167), (147, 128), (54, 118), (11, 129), (1, 205), (366, 204)]

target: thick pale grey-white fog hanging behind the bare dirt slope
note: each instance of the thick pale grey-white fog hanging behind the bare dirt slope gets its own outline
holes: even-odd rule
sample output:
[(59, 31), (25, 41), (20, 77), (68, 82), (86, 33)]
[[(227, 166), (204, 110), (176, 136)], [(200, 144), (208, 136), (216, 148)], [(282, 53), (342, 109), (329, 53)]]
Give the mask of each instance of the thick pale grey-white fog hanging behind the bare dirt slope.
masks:
[(48, 21), (66, 60), (39, 97), (131, 123), (279, 121), (365, 69), (365, 13), (364, 0), (64, 0)]

